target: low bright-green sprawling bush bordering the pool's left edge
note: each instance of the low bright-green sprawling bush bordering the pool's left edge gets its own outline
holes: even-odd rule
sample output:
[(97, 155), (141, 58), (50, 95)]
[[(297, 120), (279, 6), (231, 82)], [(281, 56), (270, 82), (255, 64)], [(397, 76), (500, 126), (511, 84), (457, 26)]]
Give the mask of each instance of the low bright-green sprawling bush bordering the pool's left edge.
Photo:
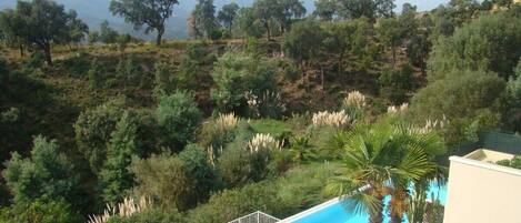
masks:
[(192, 222), (220, 223), (261, 211), (283, 219), (323, 202), (324, 181), (335, 165), (311, 165), (294, 169), (277, 180), (248, 184), (213, 194), (207, 204), (191, 210)]

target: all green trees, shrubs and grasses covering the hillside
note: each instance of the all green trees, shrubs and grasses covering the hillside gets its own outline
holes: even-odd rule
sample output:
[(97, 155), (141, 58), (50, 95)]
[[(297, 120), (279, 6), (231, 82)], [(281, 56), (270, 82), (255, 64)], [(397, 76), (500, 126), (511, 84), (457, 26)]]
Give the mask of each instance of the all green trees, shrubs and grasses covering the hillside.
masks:
[(365, 184), (372, 222), (387, 195), (391, 222), (440, 221), (443, 158), (521, 130), (519, 4), (200, 0), (163, 40), (178, 3), (111, 1), (156, 44), (52, 0), (0, 12), (0, 222), (283, 219)]

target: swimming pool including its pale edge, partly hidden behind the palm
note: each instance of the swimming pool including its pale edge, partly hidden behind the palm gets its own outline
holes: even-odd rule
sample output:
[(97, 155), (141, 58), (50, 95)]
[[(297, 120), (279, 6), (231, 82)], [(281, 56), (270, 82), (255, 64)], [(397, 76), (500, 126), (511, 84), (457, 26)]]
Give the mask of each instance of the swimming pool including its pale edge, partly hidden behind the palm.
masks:
[[(438, 199), (441, 204), (445, 204), (447, 185), (440, 186), (438, 183), (431, 183), (428, 200)], [(390, 197), (385, 197), (385, 203)], [(368, 223), (369, 214), (350, 213), (342, 205), (339, 199), (330, 200), (323, 204), (317, 205), (308, 211), (290, 216), (282, 222), (284, 223)], [(389, 222), (389, 216), (384, 214), (384, 223)], [(405, 221), (407, 222), (407, 221)]]

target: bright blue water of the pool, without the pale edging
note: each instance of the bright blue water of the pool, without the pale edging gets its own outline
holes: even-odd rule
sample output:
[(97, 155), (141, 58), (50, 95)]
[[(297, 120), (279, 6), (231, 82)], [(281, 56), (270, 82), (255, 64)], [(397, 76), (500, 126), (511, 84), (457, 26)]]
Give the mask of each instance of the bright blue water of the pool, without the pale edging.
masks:
[[(428, 199), (438, 199), (441, 204), (445, 204), (447, 200), (447, 185), (440, 186), (437, 183), (431, 183), (428, 193)], [(387, 197), (389, 201), (390, 197)], [(388, 202), (385, 201), (385, 202)], [(351, 211), (352, 212), (352, 211)], [(333, 203), (324, 209), (314, 212), (308, 216), (294, 221), (293, 223), (368, 223), (369, 214), (351, 213), (345, 209), (341, 202)], [(384, 214), (384, 223), (389, 223), (389, 216)], [(404, 221), (407, 222), (407, 221)]]

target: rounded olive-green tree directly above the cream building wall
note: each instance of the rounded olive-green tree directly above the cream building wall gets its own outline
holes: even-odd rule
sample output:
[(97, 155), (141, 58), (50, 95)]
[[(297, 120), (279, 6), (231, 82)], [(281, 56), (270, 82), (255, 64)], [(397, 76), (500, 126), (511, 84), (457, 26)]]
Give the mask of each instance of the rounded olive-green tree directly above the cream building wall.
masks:
[(447, 118), (450, 123), (444, 128), (448, 131), (444, 140), (468, 141), (469, 133), (497, 124), (504, 88), (504, 81), (493, 72), (453, 70), (414, 94), (411, 114), (421, 122)]

